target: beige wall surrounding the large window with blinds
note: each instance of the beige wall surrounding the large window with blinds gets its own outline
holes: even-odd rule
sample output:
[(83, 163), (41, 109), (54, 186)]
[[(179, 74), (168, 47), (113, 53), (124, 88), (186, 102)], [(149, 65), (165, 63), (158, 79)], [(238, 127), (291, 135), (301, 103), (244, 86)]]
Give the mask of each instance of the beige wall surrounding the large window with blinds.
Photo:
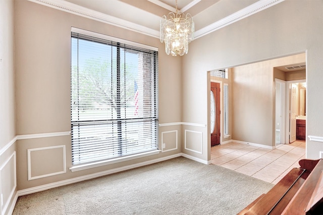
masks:
[[(18, 190), (176, 155), (181, 152), (182, 72), (181, 60), (167, 56), (158, 38), (128, 31), (91, 19), (72, 15), (28, 1), (16, 1), (16, 102), (18, 140)], [(166, 152), (118, 164), (71, 172), (70, 120), (70, 40), (71, 27), (77, 27), (158, 47), (159, 59), (159, 146), (164, 137)], [(166, 123), (175, 123), (167, 125)], [(46, 133), (59, 136), (42, 137)], [(65, 132), (65, 133), (64, 133)], [(178, 139), (176, 139), (176, 132)], [(33, 138), (37, 134), (38, 138)], [(61, 134), (61, 133), (60, 133)], [(27, 136), (25, 136), (27, 135)], [(29, 136), (28, 136), (29, 135)], [(36, 135), (36, 136), (37, 136)], [(52, 148), (55, 146), (55, 148)], [(66, 173), (62, 150), (66, 150)], [(161, 149), (161, 147), (159, 147)], [(28, 180), (27, 150), (31, 153), (31, 180)], [(39, 149), (39, 150), (38, 150)], [(56, 160), (41, 154), (55, 153)], [(54, 165), (52, 172), (43, 166)], [(44, 177), (48, 174), (57, 174)]]

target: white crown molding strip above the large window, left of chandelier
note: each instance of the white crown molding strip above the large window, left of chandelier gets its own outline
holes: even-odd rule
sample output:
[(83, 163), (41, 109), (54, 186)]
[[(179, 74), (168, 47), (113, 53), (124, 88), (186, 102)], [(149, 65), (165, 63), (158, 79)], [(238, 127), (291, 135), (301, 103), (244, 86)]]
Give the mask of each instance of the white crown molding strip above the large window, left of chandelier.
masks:
[(159, 31), (156, 31), (154, 29), (151, 29), (142, 25), (138, 25), (136, 23), (129, 22), (117, 17), (113, 17), (104, 13), (100, 13), (85, 7), (81, 7), (79, 5), (76, 5), (67, 1), (63, 1), (63, 0), (28, 0), (28, 1), (40, 4), (40, 5), (44, 5), (50, 8), (55, 8), (60, 11), (65, 11), (78, 16), (93, 19), (99, 22), (104, 22), (110, 25), (118, 26), (120, 28), (135, 31), (151, 37), (159, 38)]

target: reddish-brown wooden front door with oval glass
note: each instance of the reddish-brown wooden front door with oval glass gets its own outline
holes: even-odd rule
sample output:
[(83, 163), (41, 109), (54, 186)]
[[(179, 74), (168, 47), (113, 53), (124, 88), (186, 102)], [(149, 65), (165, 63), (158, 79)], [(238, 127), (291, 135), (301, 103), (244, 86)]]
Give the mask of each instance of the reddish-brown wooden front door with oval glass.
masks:
[(211, 82), (211, 146), (220, 144), (220, 113), (220, 83)]

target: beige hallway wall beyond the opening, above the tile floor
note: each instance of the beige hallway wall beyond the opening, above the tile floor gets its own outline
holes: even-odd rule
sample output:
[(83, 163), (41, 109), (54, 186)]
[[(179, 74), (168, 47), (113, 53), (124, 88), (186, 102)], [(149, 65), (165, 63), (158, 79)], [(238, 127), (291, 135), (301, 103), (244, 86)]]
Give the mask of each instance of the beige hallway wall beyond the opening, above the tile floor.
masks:
[(304, 62), (305, 57), (301, 53), (233, 68), (234, 140), (275, 145), (274, 68)]

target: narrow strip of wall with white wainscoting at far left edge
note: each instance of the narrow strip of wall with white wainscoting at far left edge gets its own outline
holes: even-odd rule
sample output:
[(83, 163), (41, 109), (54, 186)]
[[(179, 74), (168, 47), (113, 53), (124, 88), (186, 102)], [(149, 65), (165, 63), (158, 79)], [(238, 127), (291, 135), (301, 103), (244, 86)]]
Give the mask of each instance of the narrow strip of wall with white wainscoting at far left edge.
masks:
[(16, 131), (14, 73), (14, 1), (0, 1), (0, 213), (15, 204)]

